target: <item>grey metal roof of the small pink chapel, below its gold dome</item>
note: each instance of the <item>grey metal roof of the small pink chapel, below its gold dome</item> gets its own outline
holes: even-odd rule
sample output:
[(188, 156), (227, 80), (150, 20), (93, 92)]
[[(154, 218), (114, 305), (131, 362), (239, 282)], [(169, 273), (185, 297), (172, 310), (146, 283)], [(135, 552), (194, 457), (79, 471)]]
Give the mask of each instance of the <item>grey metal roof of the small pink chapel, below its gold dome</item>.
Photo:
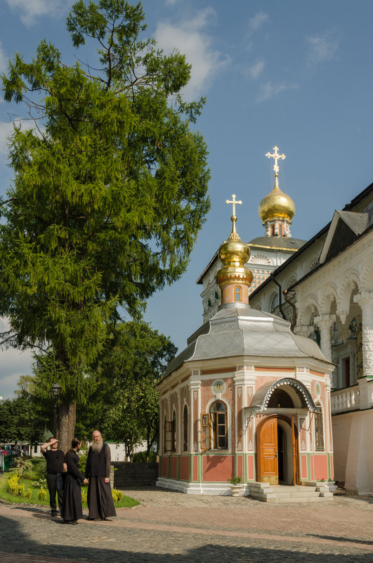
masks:
[(230, 356), (315, 358), (331, 365), (318, 344), (291, 332), (288, 321), (250, 306), (223, 306), (207, 328), (205, 334), (196, 332), (195, 341), (169, 363), (164, 377), (185, 361)]

